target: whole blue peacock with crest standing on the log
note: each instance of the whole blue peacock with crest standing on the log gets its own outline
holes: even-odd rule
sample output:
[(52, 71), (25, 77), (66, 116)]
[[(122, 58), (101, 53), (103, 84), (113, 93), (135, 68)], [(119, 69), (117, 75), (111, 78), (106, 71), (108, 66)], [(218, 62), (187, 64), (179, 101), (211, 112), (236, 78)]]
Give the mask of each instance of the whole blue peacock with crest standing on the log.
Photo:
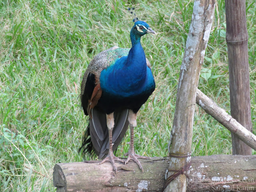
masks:
[[(132, 48), (114, 46), (100, 52), (88, 65), (81, 83), (82, 108), (90, 118), (79, 152), (82, 151), (83, 155), (87, 152), (97, 154), (99, 159), (103, 159), (100, 164), (110, 161), (116, 172), (115, 160), (125, 164), (133, 160), (143, 172), (138, 158), (149, 158), (134, 152), (134, 127), (138, 110), (155, 90), (150, 62), (140, 38), (156, 32), (136, 17), (133, 21), (130, 31)], [(114, 156), (113, 151), (122, 141), (128, 125), (130, 149), (124, 161)]]

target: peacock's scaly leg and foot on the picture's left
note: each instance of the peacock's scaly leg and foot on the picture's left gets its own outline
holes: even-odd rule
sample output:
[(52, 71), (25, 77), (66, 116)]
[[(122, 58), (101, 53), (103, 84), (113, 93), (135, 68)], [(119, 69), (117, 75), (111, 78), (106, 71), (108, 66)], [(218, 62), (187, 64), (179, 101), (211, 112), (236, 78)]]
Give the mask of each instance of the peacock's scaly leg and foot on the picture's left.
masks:
[(114, 128), (114, 113), (111, 113), (111, 114), (107, 114), (107, 126), (108, 126), (108, 136), (109, 136), (109, 150), (108, 150), (108, 155), (106, 156), (106, 158), (104, 158), (102, 160), (102, 162), (100, 162), (99, 164), (102, 164), (104, 163), (105, 161), (110, 161), (114, 170), (116, 171), (117, 173), (117, 168), (116, 168), (116, 165), (115, 165), (115, 160), (116, 161), (120, 161), (120, 162), (123, 162), (124, 163), (124, 160), (114, 156), (114, 153), (113, 153), (113, 144), (112, 144), (112, 131), (113, 131), (113, 128)]

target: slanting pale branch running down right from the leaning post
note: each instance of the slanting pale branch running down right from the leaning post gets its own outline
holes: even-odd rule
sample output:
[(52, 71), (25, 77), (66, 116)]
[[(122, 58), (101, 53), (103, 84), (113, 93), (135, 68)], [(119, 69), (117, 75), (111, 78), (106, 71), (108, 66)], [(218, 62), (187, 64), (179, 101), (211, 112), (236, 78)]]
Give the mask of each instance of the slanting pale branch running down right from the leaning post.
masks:
[(232, 116), (226, 113), (224, 109), (220, 108), (199, 89), (197, 90), (196, 103), (230, 132), (234, 133), (245, 144), (256, 150), (256, 136), (244, 128), (240, 123), (232, 118)]

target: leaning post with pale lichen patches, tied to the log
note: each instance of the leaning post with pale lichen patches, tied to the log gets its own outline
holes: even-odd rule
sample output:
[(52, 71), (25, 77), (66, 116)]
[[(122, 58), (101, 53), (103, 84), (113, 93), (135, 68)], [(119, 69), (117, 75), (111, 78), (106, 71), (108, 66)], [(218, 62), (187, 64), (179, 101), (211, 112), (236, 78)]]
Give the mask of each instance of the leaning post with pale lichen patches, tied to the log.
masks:
[(195, 0), (180, 68), (174, 123), (170, 136), (170, 164), (165, 192), (185, 192), (190, 167), (196, 90), (214, 18), (215, 0)]

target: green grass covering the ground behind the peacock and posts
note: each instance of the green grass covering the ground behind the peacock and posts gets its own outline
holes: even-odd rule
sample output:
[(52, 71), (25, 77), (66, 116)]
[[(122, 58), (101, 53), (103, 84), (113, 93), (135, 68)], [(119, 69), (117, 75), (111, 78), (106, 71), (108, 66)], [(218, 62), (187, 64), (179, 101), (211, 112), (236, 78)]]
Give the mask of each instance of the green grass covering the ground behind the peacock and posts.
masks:
[[(130, 1), (129, 1), (130, 2)], [(256, 133), (256, 6), (246, 1), (252, 123)], [(54, 191), (58, 162), (78, 162), (86, 128), (78, 95), (90, 60), (130, 47), (127, 7), (157, 32), (142, 38), (156, 90), (139, 112), (138, 154), (166, 156), (192, 0), (3, 0), (0, 2), (0, 191)], [(224, 0), (219, 0), (199, 88), (230, 110)], [(125, 141), (128, 142), (129, 136)], [(231, 137), (196, 107), (192, 155), (232, 154)], [(128, 151), (122, 144), (118, 156)], [(255, 151), (253, 151), (256, 154)], [(89, 159), (90, 157), (88, 157)]]

